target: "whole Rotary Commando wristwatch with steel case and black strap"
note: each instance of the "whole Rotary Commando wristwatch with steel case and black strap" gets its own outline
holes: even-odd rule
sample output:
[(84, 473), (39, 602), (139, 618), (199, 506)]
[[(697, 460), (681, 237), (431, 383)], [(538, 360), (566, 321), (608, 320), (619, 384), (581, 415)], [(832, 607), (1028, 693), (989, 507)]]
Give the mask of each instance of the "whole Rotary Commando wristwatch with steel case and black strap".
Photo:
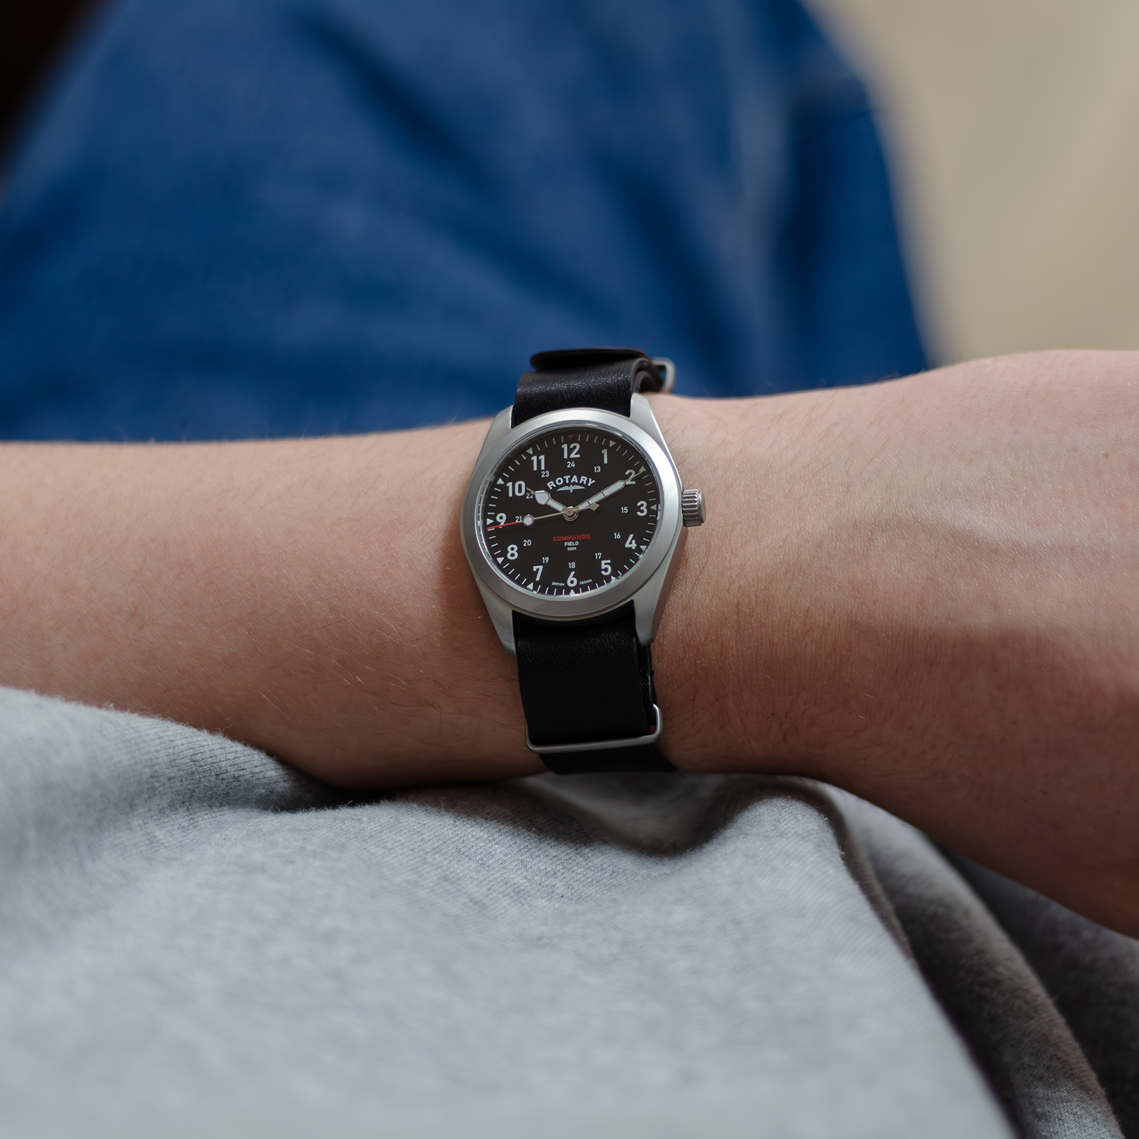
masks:
[(642, 392), (670, 360), (539, 352), (495, 416), (462, 500), (462, 548), (518, 659), (526, 746), (559, 775), (673, 771), (650, 646), (704, 499), (685, 490)]

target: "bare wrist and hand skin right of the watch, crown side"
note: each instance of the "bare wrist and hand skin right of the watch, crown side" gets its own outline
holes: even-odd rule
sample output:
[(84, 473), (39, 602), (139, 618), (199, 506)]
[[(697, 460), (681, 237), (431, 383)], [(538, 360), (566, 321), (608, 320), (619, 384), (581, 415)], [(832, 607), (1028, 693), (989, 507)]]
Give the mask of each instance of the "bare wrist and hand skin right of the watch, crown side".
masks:
[(658, 640), (670, 756), (822, 778), (1139, 928), (1137, 377), (1048, 353), (686, 408), (710, 541)]

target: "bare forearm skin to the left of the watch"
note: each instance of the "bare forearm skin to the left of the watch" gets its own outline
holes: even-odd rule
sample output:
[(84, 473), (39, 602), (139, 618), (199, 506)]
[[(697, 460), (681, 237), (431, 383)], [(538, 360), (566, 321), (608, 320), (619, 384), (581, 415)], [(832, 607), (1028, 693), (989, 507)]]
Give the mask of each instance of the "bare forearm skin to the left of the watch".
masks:
[(0, 449), (0, 681), (349, 786), (539, 770), (458, 542), (485, 427)]

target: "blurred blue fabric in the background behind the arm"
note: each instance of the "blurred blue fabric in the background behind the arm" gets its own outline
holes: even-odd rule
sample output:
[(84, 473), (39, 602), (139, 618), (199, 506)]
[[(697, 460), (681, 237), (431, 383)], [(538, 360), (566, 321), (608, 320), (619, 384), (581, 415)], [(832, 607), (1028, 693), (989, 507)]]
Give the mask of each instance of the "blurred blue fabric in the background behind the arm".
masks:
[(793, 0), (116, 0), (9, 157), (0, 436), (489, 415), (923, 367), (866, 96)]

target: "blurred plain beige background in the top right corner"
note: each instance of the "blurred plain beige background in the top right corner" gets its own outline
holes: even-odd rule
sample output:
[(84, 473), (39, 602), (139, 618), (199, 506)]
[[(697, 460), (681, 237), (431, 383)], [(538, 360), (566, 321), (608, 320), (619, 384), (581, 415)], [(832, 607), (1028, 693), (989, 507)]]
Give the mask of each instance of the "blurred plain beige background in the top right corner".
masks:
[(1139, 349), (1139, 0), (808, 0), (880, 108), (942, 360)]

